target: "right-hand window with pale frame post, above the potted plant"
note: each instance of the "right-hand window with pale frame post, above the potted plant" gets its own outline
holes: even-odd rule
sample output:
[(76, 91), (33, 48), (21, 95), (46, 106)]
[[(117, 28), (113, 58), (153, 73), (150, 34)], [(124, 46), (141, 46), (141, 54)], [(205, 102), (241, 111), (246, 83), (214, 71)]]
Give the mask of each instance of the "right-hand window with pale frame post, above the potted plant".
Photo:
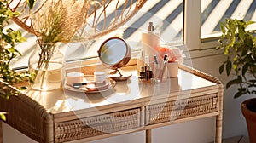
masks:
[[(218, 45), (219, 23), (226, 17), (256, 21), (255, 0), (185, 0), (184, 5), (183, 36), (190, 54)], [(256, 30), (256, 24), (249, 28)], [(201, 52), (201, 56), (208, 54), (217, 53), (215, 50)]]

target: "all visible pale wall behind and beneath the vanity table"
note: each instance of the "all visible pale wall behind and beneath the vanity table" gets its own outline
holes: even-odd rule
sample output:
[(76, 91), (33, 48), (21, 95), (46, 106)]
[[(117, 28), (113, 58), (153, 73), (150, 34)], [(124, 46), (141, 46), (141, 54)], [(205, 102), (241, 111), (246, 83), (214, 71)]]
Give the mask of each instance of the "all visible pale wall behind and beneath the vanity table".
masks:
[[(221, 55), (207, 56), (193, 60), (193, 66), (202, 72), (207, 72), (218, 77), (225, 84), (227, 77), (218, 74), (218, 66), (224, 60)], [(236, 90), (236, 89), (235, 89)], [(244, 118), (241, 115), (240, 104), (244, 99), (233, 99), (234, 89), (224, 90), (224, 138), (247, 134)], [(191, 121), (188, 123), (178, 123), (167, 127), (153, 130), (153, 142), (161, 143), (207, 143), (214, 140), (215, 117)], [(119, 135), (103, 140), (92, 141), (92, 143), (133, 143), (145, 142), (144, 132), (134, 134)], [(3, 125), (3, 143), (33, 143), (25, 135), (20, 134), (15, 129), (11, 129), (6, 124)]]

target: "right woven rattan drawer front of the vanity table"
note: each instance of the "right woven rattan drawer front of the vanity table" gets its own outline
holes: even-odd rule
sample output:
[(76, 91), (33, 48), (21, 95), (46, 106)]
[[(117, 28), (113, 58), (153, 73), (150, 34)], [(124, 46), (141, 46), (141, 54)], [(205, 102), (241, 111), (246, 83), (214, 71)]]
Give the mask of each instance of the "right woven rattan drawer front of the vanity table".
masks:
[(211, 112), (218, 112), (218, 94), (146, 106), (146, 124), (165, 123)]

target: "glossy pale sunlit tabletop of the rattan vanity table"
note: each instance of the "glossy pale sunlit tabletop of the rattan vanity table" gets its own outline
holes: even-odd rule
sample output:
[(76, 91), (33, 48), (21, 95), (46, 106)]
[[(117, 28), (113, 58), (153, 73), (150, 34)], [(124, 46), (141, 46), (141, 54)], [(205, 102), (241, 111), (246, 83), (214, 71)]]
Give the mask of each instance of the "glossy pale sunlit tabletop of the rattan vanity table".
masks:
[(132, 72), (132, 77), (129, 80), (117, 82), (113, 89), (105, 92), (90, 94), (62, 88), (48, 92), (29, 89), (25, 91), (25, 94), (38, 101), (48, 112), (55, 114), (112, 104), (129, 105), (145, 98), (151, 100), (168, 98), (172, 93), (178, 95), (216, 85), (216, 83), (180, 69), (178, 77), (169, 78), (166, 82), (159, 84), (142, 83), (138, 80), (136, 70), (128, 69), (127, 71)]

